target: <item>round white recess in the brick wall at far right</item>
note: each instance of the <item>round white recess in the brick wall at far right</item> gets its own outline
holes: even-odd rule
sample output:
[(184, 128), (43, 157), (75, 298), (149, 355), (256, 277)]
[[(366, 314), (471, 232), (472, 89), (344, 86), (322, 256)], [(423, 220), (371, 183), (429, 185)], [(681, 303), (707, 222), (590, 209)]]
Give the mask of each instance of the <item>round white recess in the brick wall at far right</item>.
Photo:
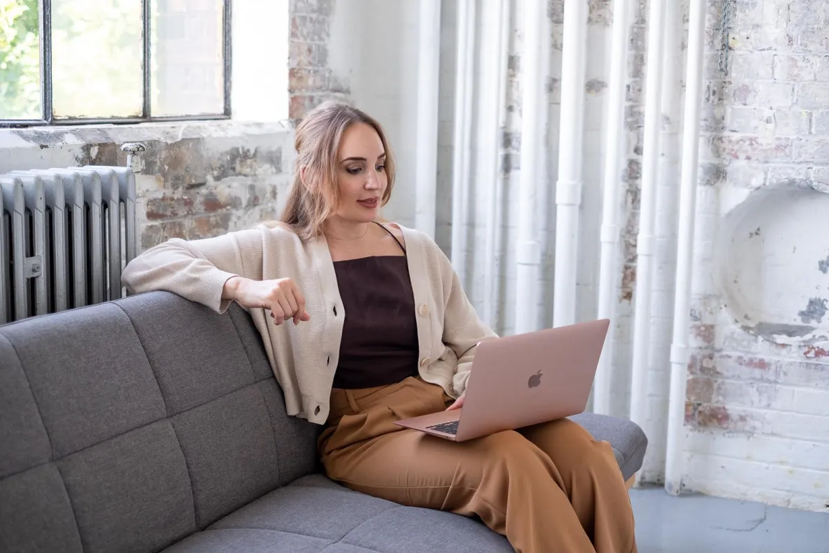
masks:
[(829, 340), (829, 194), (765, 187), (729, 211), (715, 240), (725, 309), (779, 344)]

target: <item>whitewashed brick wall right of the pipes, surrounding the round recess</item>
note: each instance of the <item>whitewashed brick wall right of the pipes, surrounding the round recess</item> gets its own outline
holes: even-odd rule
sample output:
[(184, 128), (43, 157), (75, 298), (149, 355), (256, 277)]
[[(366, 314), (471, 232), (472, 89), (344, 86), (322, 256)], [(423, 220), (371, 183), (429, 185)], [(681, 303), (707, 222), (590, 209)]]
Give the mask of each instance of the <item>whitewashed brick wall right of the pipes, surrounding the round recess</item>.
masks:
[[(729, 240), (717, 230), (733, 198), (829, 176), (827, 17), (822, 0), (710, 2), (691, 325), (696, 353), (686, 402), (689, 487), (812, 510), (829, 507), (819, 491), (829, 483), (826, 342), (781, 340), (749, 327), (712, 279), (711, 250), (716, 240)], [(760, 221), (749, 238), (766, 230)], [(803, 235), (801, 245), (825, 237)], [(768, 255), (782, 238), (768, 238)], [(791, 279), (769, 286), (815, 282), (808, 293), (826, 298), (819, 260), (789, 263)], [(763, 291), (745, 293), (750, 301)], [(806, 298), (784, 307), (794, 315), (805, 304)], [(816, 317), (807, 322), (821, 323), (825, 313)]]

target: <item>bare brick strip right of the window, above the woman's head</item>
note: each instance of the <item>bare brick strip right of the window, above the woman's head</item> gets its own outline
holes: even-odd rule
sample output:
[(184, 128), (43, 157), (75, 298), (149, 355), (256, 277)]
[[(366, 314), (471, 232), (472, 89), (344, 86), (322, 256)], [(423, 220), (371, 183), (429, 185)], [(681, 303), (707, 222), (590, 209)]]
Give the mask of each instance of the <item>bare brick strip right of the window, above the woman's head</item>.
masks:
[[(288, 51), (288, 117), (301, 119), (327, 99), (348, 100), (347, 78), (328, 66), (328, 41), (335, 0), (291, 0)], [(356, 39), (356, 37), (355, 37)]]

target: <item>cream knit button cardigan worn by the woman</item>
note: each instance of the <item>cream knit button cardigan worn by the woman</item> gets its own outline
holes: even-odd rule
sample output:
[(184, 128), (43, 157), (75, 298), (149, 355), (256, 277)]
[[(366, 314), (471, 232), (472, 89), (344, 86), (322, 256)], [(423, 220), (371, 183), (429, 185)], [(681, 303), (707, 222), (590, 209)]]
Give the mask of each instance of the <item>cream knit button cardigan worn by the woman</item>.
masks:
[[(419, 374), (458, 397), (466, 389), (479, 341), (496, 337), (478, 318), (446, 255), (427, 235), (400, 226), (414, 291)], [(340, 352), (342, 307), (324, 237), (301, 240), (282, 227), (257, 226), (204, 240), (171, 239), (138, 255), (124, 269), (131, 293), (167, 290), (224, 313), (227, 279), (290, 277), (305, 296), (311, 320), (279, 326), (265, 309), (245, 309), (264, 341), (288, 415), (323, 424)], [(366, 282), (371, 286), (371, 282)]]

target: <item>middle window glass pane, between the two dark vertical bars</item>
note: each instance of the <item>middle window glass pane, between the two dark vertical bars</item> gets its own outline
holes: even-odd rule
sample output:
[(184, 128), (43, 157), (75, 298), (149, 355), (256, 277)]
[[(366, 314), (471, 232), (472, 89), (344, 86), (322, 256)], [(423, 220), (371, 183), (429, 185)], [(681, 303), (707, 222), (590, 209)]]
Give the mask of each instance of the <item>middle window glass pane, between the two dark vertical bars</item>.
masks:
[(51, 5), (55, 117), (141, 116), (140, 0), (52, 0)]

